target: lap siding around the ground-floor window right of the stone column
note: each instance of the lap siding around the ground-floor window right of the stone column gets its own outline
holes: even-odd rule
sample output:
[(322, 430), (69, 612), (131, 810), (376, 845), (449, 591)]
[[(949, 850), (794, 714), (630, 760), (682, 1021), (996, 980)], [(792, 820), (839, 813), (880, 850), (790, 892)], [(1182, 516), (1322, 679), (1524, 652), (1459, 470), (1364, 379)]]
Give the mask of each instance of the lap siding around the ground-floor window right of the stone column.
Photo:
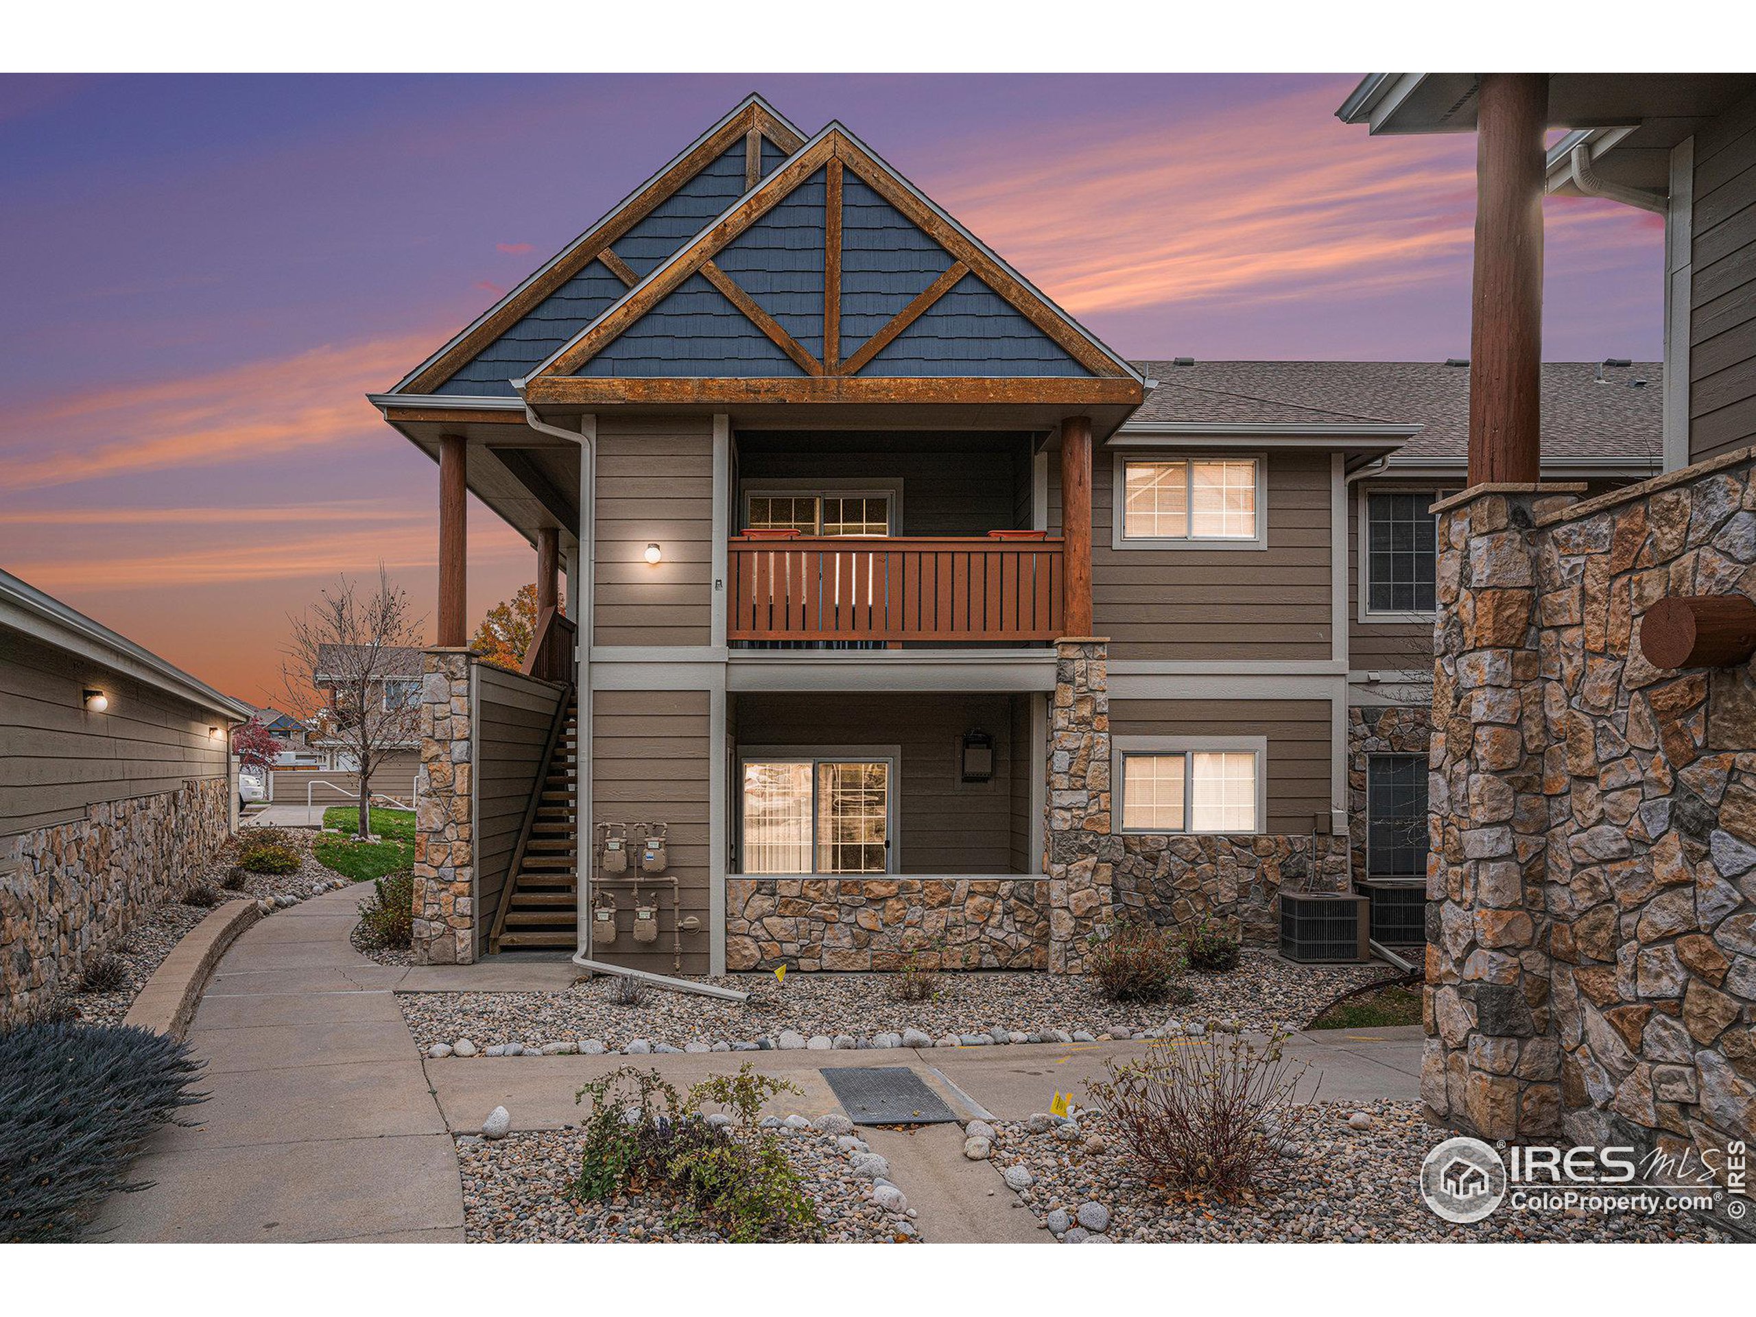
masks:
[(1329, 808), (1329, 701), (1112, 699), (1110, 732), (1268, 738), (1268, 820), (1261, 831), (1306, 834), (1313, 817)]

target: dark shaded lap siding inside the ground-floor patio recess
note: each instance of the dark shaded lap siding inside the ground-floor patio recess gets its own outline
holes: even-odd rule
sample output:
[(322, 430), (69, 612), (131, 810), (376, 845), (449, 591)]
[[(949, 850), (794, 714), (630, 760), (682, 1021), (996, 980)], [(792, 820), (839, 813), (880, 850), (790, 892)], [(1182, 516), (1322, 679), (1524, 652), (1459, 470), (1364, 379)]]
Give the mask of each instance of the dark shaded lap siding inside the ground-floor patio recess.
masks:
[[(1020, 697), (1022, 699), (1022, 697)], [(738, 697), (743, 745), (901, 746), (897, 766), (897, 873), (1013, 873), (1013, 741), (1008, 695), (801, 695)], [(962, 734), (994, 736), (994, 778), (962, 783)], [(1026, 748), (1026, 766), (1029, 750)], [(1026, 787), (1024, 808), (1029, 808)], [(1022, 850), (1022, 848), (1020, 848)], [(1034, 867), (1031, 869), (1034, 871)]]

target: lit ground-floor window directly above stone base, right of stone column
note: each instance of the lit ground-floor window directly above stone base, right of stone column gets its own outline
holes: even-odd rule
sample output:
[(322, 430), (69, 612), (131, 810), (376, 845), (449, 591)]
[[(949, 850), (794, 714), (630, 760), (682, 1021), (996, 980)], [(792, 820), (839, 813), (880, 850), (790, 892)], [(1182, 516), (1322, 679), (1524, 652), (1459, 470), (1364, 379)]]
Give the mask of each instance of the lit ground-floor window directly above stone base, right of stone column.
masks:
[(1112, 738), (1124, 832), (1261, 832), (1268, 741), (1259, 736)]

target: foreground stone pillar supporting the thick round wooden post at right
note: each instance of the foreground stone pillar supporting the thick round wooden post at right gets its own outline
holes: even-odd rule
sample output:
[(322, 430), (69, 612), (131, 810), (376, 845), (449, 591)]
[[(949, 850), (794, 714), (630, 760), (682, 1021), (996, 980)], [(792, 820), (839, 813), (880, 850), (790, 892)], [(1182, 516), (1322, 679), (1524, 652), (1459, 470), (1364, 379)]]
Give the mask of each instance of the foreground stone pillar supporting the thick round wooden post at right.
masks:
[(1552, 1136), (1549, 802), (1536, 486), (1479, 486), (1438, 523), (1421, 1096), (1487, 1140)]

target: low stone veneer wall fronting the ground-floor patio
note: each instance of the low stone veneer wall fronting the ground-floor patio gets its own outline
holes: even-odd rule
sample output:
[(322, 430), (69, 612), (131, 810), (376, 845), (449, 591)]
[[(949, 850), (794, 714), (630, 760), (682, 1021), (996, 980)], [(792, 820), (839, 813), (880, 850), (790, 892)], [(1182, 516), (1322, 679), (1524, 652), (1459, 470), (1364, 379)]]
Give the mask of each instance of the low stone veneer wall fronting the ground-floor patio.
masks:
[(1043, 969), (1040, 878), (730, 878), (725, 968)]

